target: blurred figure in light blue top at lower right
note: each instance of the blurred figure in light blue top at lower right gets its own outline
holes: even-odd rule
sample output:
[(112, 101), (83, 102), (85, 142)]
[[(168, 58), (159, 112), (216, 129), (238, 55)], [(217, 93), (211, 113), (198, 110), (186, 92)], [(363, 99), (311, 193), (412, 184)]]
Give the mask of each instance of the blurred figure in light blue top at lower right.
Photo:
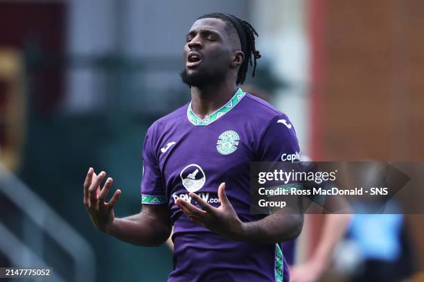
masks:
[(402, 281), (411, 276), (407, 236), (403, 215), (355, 215), (348, 242), (356, 247), (359, 260), (351, 281)]

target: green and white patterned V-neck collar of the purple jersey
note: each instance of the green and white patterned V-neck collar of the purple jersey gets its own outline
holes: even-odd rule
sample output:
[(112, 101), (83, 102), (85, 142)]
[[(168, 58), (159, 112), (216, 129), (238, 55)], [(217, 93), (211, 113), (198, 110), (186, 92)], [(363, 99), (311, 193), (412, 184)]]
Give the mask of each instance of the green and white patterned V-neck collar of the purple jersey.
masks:
[(234, 94), (234, 96), (228, 101), (228, 103), (226, 103), (225, 105), (217, 109), (215, 112), (213, 112), (213, 114), (206, 116), (206, 118), (203, 118), (203, 119), (196, 116), (196, 114), (193, 112), (193, 109), (191, 109), (191, 102), (190, 102), (190, 104), (188, 104), (188, 107), (187, 107), (188, 121), (193, 123), (193, 125), (199, 125), (199, 126), (209, 125), (213, 123), (214, 121), (216, 121), (221, 116), (224, 116), (224, 114), (229, 112), (233, 107), (236, 107), (238, 102), (240, 102), (240, 100), (244, 96), (245, 96), (245, 92), (243, 92), (242, 89), (239, 88), (236, 91), (236, 94)]

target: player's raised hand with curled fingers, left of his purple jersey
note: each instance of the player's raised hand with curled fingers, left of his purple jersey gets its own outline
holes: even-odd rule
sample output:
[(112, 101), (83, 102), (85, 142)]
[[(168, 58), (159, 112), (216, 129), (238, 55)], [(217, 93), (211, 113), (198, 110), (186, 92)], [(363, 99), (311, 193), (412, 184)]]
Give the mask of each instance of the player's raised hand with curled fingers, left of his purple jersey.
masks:
[(121, 195), (121, 190), (116, 190), (112, 199), (109, 202), (105, 202), (113, 182), (111, 177), (107, 178), (105, 185), (100, 190), (100, 183), (105, 176), (106, 173), (104, 171), (96, 175), (94, 169), (89, 168), (84, 182), (84, 205), (93, 224), (101, 231), (107, 232), (107, 227), (114, 221), (114, 206)]

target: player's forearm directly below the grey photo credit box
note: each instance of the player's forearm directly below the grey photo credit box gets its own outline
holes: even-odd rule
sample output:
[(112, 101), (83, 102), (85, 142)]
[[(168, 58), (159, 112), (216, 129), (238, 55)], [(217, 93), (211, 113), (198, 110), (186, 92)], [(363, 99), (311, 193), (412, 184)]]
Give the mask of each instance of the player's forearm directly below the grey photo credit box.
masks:
[(302, 227), (302, 214), (272, 214), (255, 222), (243, 222), (240, 240), (257, 244), (281, 243), (297, 238)]

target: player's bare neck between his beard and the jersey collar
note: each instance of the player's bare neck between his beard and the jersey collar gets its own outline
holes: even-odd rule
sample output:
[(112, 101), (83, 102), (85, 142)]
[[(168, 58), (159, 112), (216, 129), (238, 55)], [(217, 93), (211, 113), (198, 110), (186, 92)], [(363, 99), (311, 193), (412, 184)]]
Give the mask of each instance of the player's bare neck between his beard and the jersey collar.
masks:
[(236, 93), (234, 82), (191, 87), (191, 109), (200, 118), (206, 118), (222, 107)]

